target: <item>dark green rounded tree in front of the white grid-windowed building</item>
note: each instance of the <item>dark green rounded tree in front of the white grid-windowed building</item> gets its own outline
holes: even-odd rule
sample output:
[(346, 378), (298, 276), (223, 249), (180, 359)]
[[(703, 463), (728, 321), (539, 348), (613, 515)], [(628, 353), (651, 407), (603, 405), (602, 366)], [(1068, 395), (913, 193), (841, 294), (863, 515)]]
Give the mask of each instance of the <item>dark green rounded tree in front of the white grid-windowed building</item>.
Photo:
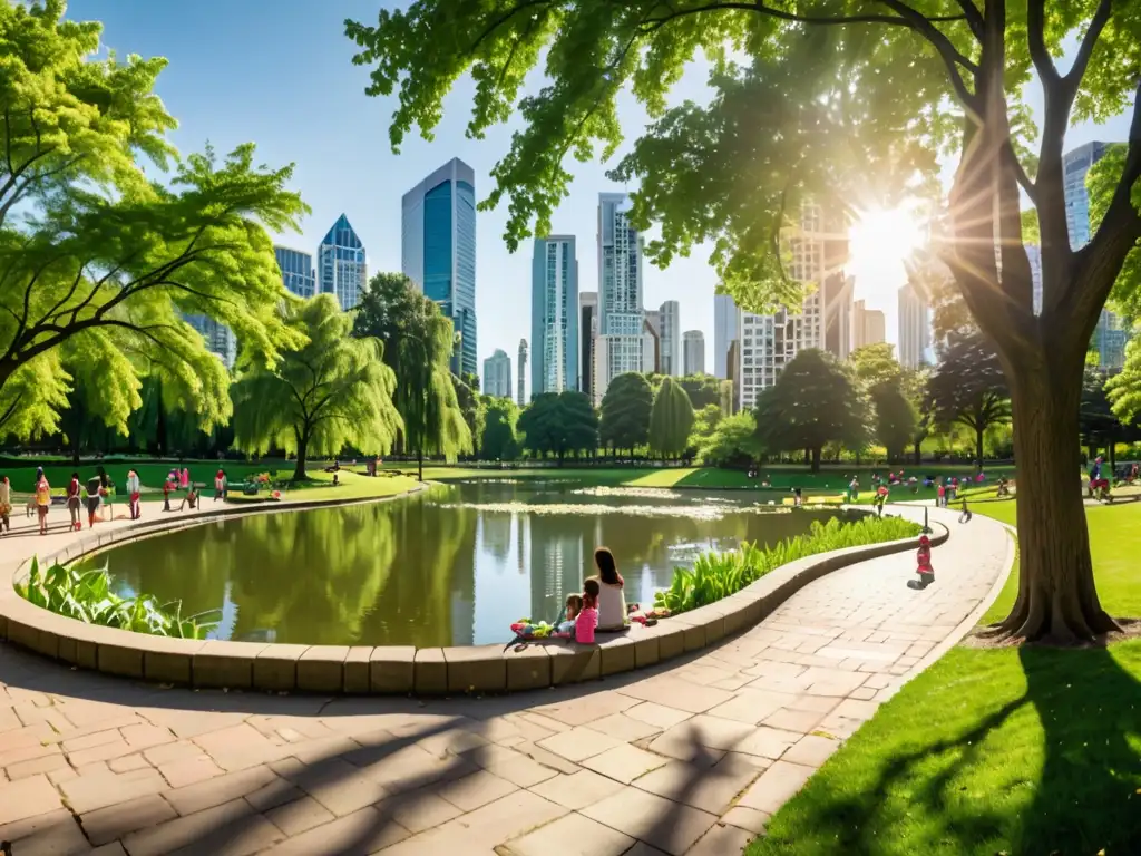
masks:
[(828, 443), (864, 443), (864, 402), (851, 369), (815, 348), (800, 352), (756, 402), (756, 431), (771, 452), (804, 450), (812, 473)]

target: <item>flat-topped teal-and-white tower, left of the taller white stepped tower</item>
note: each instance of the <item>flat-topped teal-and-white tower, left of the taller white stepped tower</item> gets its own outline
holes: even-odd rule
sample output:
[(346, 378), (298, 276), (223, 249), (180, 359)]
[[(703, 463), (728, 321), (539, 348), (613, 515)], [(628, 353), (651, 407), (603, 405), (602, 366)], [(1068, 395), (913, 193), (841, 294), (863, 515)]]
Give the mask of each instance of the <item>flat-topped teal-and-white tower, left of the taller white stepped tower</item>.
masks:
[(578, 257), (574, 235), (535, 239), (531, 347), (532, 395), (578, 388)]

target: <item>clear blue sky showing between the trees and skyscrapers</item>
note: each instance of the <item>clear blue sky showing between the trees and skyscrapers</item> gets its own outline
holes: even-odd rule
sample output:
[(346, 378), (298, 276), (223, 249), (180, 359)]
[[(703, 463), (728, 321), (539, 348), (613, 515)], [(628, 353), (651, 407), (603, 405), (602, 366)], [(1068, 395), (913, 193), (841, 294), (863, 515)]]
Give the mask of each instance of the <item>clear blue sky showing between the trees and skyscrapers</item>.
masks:
[[(445, 103), (435, 140), (411, 138), (394, 155), (388, 143), (393, 103), (364, 95), (367, 70), (351, 65), (355, 46), (343, 35), (346, 17), (372, 22), (379, 7), (378, 0), (73, 0), (68, 15), (102, 21), (105, 45), (120, 55), (170, 60), (157, 91), (179, 121), (173, 142), (184, 153), (201, 150), (207, 140), (222, 152), (253, 140), (261, 161), (297, 164), (294, 186), (313, 213), (302, 234), (281, 236), (282, 243), (311, 252), (343, 211), (374, 272), (400, 268), (400, 196), (450, 158), (460, 158), (475, 169), (476, 192), (484, 197), (491, 189), (491, 168), (507, 151), (512, 131), (508, 124), (483, 140), (464, 137), (472, 90), (463, 80)], [(703, 89), (704, 78), (695, 71), (675, 97), (701, 98)], [(646, 122), (645, 112), (632, 97), (623, 99), (621, 112), (632, 140)], [(1126, 126), (1127, 120), (1118, 118), (1104, 128), (1074, 129), (1067, 146), (1124, 139)], [(633, 189), (609, 181), (606, 168), (574, 163), (572, 195), (552, 221), (553, 232), (578, 237), (583, 291), (597, 288), (598, 193)], [(477, 225), (480, 363), (495, 348), (503, 348), (513, 362), (519, 339), (529, 337), (531, 248), (509, 253), (502, 241), (504, 223), (501, 205), (480, 213)], [(849, 265), (856, 297), (885, 312), (888, 339), (895, 341), (903, 267), (867, 250)], [(709, 354), (717, 277), (706, 259), (707, 253), (695, 251), (667, 270), (647, 266), (646, 306), (679, 300), (682, 329), (702, 330)]]

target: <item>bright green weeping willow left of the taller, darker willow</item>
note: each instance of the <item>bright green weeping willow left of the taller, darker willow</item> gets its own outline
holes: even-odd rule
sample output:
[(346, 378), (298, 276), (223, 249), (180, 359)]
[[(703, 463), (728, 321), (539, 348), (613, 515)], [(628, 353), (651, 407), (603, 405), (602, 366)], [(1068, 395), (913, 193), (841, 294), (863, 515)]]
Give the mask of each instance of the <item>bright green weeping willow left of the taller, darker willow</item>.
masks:
[(380, 340), (349, 336), (353, 320), (332, 294), (291, 301), (285, 317), (308, 341), (272, 366), (256, 361), (241, 371), (234, 387), (238, 446), (296, 453), (293, 481), (306, 477), (310, 453), (337, 454), (346, 445), (387, 452), (400, 417)]

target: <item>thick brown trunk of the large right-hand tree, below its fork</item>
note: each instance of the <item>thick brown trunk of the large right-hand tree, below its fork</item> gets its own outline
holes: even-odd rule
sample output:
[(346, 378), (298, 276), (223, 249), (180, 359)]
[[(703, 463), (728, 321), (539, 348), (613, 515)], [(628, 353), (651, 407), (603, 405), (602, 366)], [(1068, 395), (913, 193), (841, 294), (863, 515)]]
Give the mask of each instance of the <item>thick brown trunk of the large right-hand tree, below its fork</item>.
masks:
[(1093, 582), (1078, 478), (1081, 366), (1010, 372), (1018, 459), (1019, 592), (997, 629), (1028, 640), (1074, 643), (1117, 629)]

